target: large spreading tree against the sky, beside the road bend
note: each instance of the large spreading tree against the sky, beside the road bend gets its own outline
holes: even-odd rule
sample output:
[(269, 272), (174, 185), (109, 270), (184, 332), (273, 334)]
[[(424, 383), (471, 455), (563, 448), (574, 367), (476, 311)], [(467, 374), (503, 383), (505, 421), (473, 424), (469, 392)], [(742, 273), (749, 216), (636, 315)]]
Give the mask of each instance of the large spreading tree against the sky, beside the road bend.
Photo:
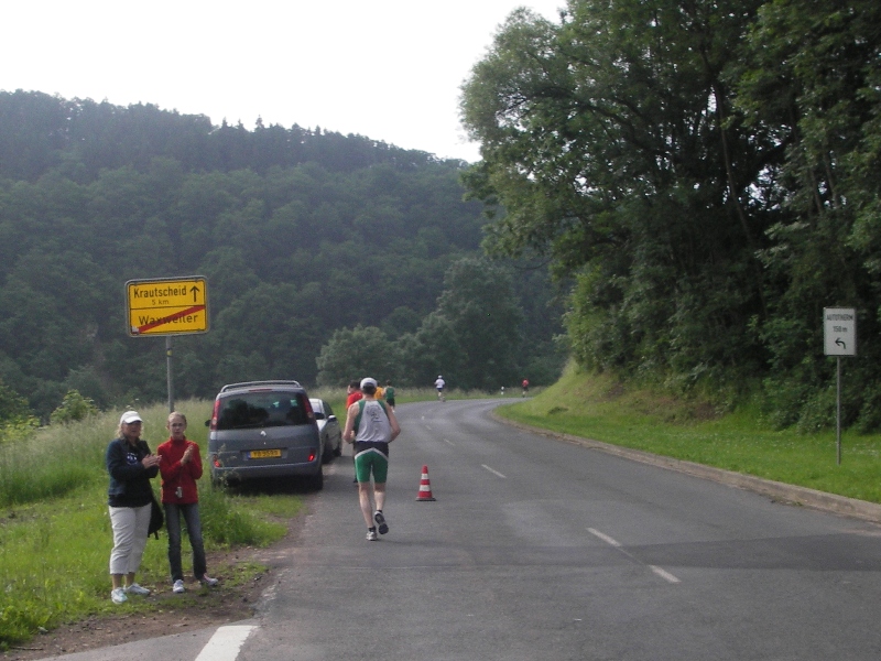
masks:
[(584, 365), (696, 382), (764, 359), (751, 191), (769, 141), (744, 131), (727, 75), (760, 2), (569, 2), (558, 25), (513, 13), (463, 90), (496, 213), (492, 253), (573, 277)]

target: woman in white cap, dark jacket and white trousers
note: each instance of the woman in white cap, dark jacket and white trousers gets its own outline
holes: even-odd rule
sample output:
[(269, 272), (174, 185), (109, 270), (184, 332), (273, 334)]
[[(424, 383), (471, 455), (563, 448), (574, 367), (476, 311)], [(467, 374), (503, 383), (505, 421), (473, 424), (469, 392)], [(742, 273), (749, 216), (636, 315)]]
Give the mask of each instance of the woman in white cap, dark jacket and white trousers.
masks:
[(141, 566), (146, 546), (153, 505), (150, 479), (159, 474), (159, 457), (150, 452), (145, 441), (141, 441), (141, 424), (137, 411), (126, 411), (119, 419), (117, 437), (107, 446), (107, 472), (110, 474), (107, 503), (113, 529), (110, 552), (113, 604), (128, 600), (128, 595), (150, 594), (134, 582), (134, 573)]

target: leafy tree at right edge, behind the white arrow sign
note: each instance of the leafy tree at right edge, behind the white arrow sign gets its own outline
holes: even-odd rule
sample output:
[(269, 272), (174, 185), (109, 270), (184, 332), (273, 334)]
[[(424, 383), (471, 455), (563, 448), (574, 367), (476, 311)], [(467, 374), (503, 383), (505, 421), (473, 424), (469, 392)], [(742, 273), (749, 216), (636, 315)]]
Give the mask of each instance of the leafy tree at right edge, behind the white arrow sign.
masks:
[[(759, 326), (771, 351), (768, 392), (781, 424), (834, 420), (822, 308), (858, 310), (874, 337), (881, 306), (881, 8), (875, 2), (775, 0), (749, 34), (738, 104), (777, 145), (761, 188), (772, 243), (760, 252), (773, 315)], [(848, 365), (845, 422), (881, 424), (881, 349), (861, 343)]]

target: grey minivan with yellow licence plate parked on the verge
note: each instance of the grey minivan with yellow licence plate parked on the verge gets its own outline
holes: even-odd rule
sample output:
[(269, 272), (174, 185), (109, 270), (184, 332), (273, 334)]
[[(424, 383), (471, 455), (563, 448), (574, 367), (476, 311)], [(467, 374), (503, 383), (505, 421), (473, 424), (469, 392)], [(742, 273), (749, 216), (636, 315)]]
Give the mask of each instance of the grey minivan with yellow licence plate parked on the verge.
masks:
[(211, 480), (240, 483), (297, 478), (324, 486), (318, 423), (296, 381), (224, 386), (214, 401), (208, 432)]

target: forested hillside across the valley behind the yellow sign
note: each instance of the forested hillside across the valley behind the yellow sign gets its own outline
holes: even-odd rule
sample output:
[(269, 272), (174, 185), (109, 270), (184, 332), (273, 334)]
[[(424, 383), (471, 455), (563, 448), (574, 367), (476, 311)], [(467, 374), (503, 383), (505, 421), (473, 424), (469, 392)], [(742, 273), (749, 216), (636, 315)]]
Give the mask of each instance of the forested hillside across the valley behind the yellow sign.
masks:
[[(347, 334), (379, 338), (374, 376), (402, 384), (553, 380), (551, 288), (480, 258), (466, 166), (320, 128), (0, 91), (0, 404), (23, 398), (45, 419), (69, 390), (99, 407), (163, 400), (164, 338), (128, 336), (124, 284), (186, 275), (207, 279), (210, 326), (173, 340), (180, 398), (259, 378), (341, 384), (368, 367), (334, 360)], [(499, 314), (457, 306), (471, 294)], [(486, 334), (503, 350), (477, 357)]]

